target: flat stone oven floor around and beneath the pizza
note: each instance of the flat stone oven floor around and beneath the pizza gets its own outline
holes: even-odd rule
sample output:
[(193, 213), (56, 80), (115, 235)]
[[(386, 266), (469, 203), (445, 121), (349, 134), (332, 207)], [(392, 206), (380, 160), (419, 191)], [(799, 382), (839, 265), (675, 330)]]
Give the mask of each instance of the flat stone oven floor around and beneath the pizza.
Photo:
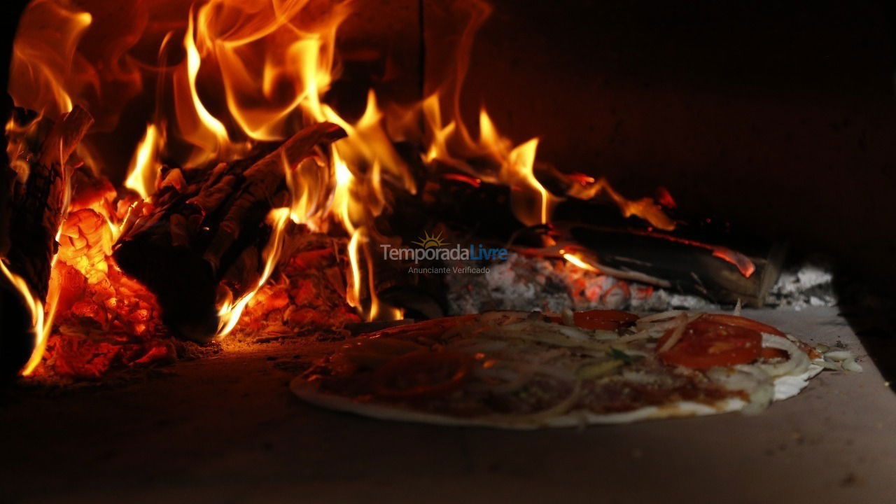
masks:
[(584, 430), (445, 428), (301, 404), (314, 343), (180, 362), (140, 383), (3, 396), (3, 502), (884, 502), (896, 395), (834, 308), (746, 315), (845, 343), (862, 373), (823, 372), (758, 416)]

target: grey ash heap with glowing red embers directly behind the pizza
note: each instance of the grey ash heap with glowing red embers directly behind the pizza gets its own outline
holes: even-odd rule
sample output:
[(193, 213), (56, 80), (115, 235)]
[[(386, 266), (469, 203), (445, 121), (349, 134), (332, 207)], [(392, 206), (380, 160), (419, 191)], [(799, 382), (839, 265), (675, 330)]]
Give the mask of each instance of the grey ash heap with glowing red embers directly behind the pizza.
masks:
[(637, 282), (619, 281), (561, 259), (511, 253), (504, 262), (488, 265), (487, 274), (446, 277), (452, 315), (489, 309), (594, 308), (655, 311), (669, 308), (719, 308), (697, 296), (663, 291)]

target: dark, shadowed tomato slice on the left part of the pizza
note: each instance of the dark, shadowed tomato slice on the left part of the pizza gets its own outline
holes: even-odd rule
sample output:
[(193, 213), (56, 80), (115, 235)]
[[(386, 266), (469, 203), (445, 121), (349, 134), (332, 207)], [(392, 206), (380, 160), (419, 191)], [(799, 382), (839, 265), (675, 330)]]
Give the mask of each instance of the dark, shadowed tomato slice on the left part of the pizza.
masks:
[(406, 353), (374, 371), (374, 391), (392, 399), (448, 395), (461, 387), (470, 373), (471, 361), (461, 352)]

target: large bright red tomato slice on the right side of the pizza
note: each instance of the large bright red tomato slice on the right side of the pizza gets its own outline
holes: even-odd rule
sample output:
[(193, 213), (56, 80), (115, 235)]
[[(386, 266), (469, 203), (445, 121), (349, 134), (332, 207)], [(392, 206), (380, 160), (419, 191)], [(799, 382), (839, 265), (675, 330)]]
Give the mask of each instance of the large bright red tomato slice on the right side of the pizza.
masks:
[[(668, 341), (675, 329), (659, 338), (658, 348)], [(719, 324), (703, 317), (685, 327), (678, 342), (659, 359), (667, 364), (691, 369), (734, 366), (755, 361), (762, 351), (762, 335), (743, 326)]]

